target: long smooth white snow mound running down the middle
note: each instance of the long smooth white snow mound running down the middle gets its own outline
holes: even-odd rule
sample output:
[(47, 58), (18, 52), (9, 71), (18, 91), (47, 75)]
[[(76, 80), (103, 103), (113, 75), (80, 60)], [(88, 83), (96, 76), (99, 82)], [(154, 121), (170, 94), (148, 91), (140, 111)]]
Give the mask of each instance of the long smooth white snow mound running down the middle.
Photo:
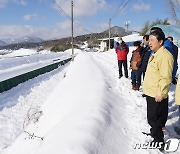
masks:
[(4, 154), (95, 153), (103, 128), (111, 122), (105, 79), (90, 55), (78, 54), (43, 105), (37, 129), (27, 128), (44, 140), (25, 140), (26, 134), (22, 134)]

